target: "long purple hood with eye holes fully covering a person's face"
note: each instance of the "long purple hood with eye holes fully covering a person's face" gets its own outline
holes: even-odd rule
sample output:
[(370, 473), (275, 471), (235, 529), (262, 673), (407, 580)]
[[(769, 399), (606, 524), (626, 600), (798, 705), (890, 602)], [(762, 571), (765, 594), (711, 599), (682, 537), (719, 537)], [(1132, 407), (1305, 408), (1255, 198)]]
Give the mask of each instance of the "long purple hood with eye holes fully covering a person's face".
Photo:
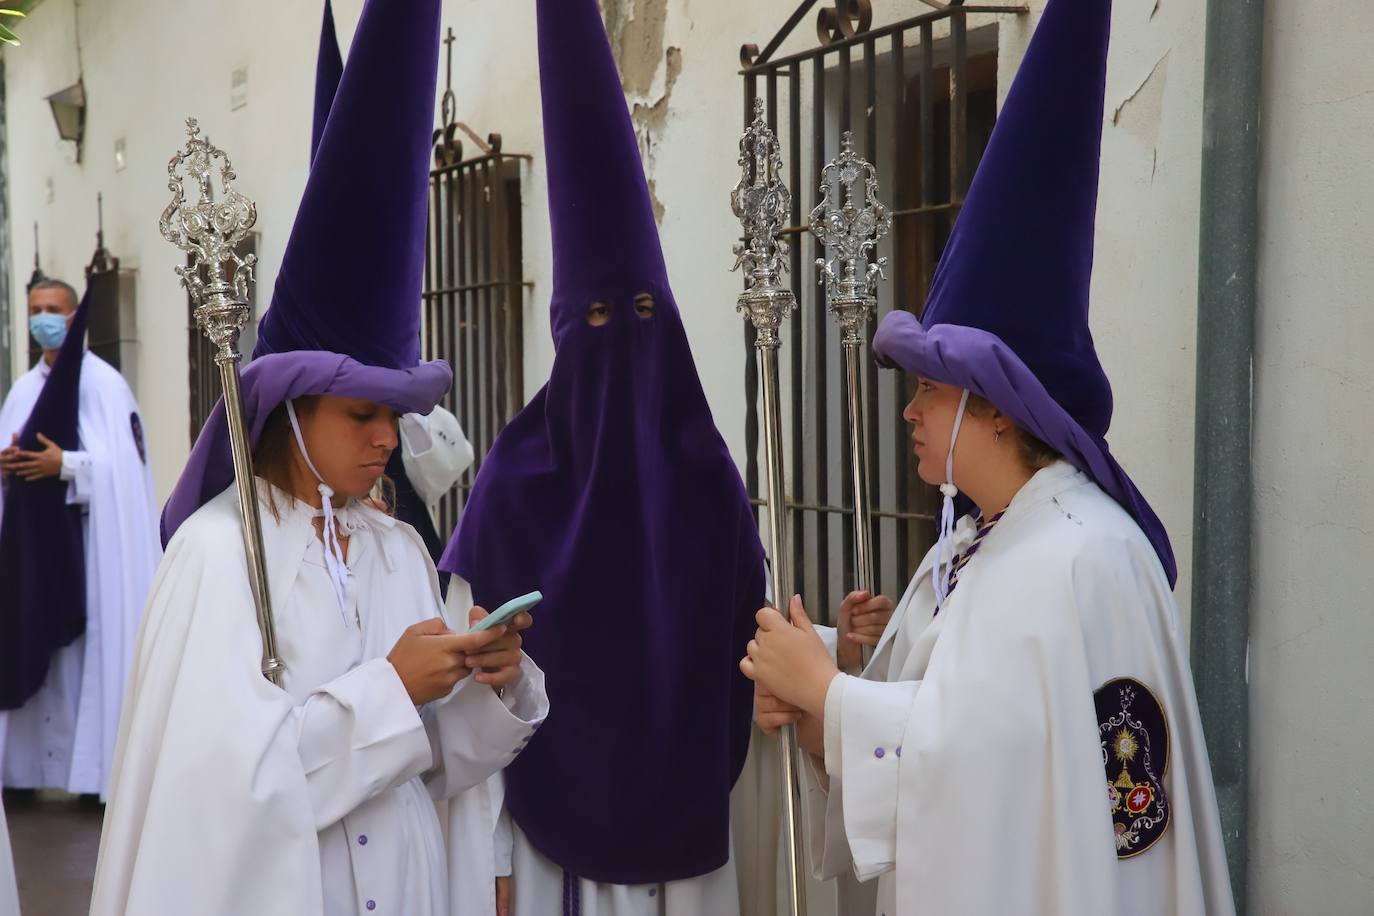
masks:
[[(485, 607), (544, 593), (525, 648), (554, 711), (506, 769), (515, 823), (578, 878), (658, 883), (730, 856), (753, 699), (738, 661), (764, 556), (668, 286), (596, 3), (540, 0), (537, 16), (554, 367), (482, 463), (440, 569)], [(587, 324), (592, 301), (609, 324)]]

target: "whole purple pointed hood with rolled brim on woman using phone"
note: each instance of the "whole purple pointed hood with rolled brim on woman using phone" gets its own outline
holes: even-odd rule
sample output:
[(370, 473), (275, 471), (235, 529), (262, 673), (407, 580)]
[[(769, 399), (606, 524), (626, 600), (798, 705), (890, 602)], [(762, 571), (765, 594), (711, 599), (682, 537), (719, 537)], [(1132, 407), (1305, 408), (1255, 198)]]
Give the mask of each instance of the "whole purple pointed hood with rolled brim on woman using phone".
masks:
[[(286, 398), (331, 394), (429, 413), (452, 386), (447, 363), (419, 361), (438, 21), (440, 0), (363, 7), (243, 369), (254, 442)], [(232, 481), (220, 404), (162, 511), (164, 545)]]

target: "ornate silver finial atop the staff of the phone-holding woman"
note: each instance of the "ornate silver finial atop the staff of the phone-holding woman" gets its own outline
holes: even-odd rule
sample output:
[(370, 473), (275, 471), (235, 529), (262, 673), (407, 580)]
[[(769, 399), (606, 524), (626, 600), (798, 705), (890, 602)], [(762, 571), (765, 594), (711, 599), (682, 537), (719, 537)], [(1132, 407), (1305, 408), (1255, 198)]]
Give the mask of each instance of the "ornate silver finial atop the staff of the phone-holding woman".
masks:
[[(249, 283), (257, 258), (251, 254), (240, 258), (235, 249), (257, 222), (257, 205), (234, 190), (238, 176), (229, 157), (201, 139), (195, 118), (187, 118), (185, 132), (190, 137), (185, 148), (168, 162), (172, 203), (162, 211), (158, 228), (162, 238), (191, 255), (191, 262), (177, 266), (176, 273), (195, 304), (196, 324), (220, 350), (216, 361), (236, 360), (239, 332), (253, 317)], [(218, 201), (213, 183), (216, 161), (221, 163)], [(187, 179), (199, 191), (194, 203), (187, 201)]]

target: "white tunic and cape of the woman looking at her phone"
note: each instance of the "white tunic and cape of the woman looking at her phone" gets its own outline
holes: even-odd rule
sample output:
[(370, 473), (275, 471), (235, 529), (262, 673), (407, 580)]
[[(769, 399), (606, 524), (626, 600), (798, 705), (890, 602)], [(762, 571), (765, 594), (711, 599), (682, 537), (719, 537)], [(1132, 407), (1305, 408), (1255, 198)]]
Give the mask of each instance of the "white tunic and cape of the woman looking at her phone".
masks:
[[(469, 677), (416, 710), (386, 654), (442, 614), (419, 537), (352, 504), (341, 607), (311, 509), (278, 493), (280, 520), (264, 501), (262, 525), (279, 691), (258, 674), (236, 499), (229, 488), (192, 515), (159, 570), (92, 915), (467, 916), (449, 905), (434, 801), (514, 759), (547, 713), (543, 673), (525, 659), (504, 700)], [(451, 839), (455, 854), (492, 842)]]

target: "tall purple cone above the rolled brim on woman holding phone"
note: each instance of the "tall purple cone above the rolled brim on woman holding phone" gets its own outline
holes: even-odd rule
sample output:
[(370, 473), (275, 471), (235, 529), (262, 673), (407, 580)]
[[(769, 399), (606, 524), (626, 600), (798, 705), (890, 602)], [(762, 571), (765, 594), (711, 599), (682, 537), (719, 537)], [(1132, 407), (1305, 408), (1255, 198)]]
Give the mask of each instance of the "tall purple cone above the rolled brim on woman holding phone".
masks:
[(440, 0), (368, 0), (253, 356), (419, 361)]

